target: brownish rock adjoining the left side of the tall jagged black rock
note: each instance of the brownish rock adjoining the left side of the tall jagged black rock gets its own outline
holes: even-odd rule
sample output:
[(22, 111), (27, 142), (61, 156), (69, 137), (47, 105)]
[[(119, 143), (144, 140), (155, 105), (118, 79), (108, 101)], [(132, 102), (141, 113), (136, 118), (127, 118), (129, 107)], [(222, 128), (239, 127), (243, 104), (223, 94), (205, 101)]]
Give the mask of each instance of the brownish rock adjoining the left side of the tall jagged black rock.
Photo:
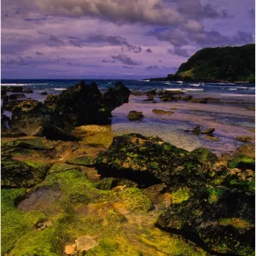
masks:
[(53, 140), (75, 140), (70, 119), (54, 113), (42, 102), (22, 101), (15, 107), (10, 127), (27, 136), (47, 137)]

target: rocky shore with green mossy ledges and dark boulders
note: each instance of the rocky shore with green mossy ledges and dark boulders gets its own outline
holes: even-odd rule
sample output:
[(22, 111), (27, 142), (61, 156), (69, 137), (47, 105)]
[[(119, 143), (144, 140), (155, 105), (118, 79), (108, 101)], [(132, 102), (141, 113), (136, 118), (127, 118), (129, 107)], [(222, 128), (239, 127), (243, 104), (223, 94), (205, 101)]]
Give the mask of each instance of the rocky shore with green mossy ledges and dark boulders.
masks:
[(255, 144), (238, 138), (243, 146), (218, 157), (114, 136), (111, 112), (130, 94), (80, 82), (2, 113), (2, 255), (254, 255)]

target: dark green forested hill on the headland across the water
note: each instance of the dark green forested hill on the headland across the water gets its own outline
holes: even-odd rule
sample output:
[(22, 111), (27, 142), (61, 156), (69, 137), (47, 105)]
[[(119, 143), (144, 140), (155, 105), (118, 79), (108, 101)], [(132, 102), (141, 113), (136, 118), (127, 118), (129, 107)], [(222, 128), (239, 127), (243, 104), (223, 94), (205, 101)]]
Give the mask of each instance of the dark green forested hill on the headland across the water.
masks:
[(201, 49), (178, 68), (175, 76), (182, 79), (254, 81), (255, 44)]

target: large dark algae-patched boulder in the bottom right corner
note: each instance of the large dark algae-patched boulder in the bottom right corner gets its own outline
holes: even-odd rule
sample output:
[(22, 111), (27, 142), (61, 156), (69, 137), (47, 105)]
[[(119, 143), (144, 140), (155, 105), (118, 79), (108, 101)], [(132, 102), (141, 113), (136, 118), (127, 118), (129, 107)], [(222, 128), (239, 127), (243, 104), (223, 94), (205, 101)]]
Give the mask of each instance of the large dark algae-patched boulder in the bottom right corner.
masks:
[(254, 193), (198, 188), (188, 201), (172, 204), (156, 225), (213, 253), (253, 255)]

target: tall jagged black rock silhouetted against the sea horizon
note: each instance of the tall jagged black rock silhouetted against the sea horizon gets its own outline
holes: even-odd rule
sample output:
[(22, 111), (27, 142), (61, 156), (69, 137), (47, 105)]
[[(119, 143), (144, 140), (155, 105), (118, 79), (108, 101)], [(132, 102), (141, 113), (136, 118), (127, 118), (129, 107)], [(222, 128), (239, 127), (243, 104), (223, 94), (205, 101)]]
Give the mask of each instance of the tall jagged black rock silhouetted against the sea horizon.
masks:
[(107, 124), (114, 108), (129, 101), (130, 90), (121, 82), (102, 94), (98, 85), (84, 81), (67, 87), (60, 95), (47, 96), (44, 105), (61, 116), (73, 120), (73, 125)]

